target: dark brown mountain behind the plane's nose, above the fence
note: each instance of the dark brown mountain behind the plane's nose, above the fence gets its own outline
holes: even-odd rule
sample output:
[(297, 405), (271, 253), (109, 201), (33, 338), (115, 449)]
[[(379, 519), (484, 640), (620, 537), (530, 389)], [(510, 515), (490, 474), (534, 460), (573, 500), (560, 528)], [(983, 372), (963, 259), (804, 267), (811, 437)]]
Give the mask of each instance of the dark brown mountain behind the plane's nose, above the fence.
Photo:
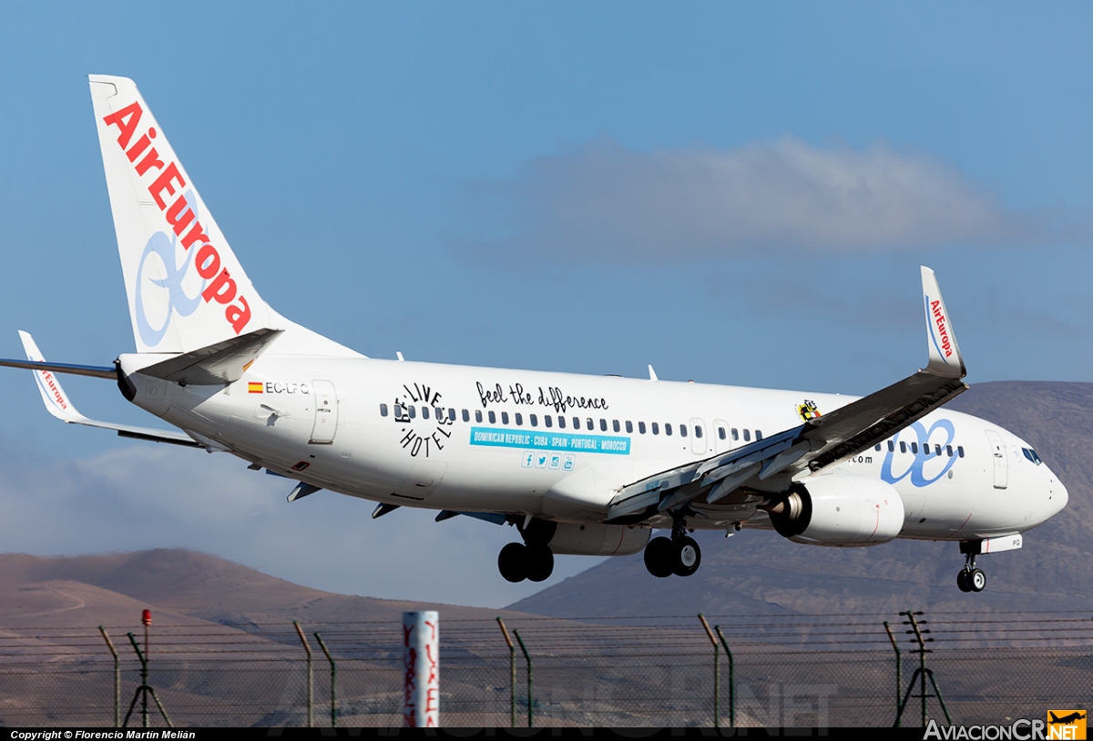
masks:
[(773, 532), (726, 540), (698, 533), (703, 565), (657, 579), (642, 556), (613, 558), (510, 607), (543, 615), (1088, 610), (1093, 607), (1093, 384), (977, 384), (952, 409), (1013, 431), (1070, 492), (1020, 551), (983, 556), (987, 590), (963, 593), (955, 543), (896, 541), (865, 549), (800, 545)]

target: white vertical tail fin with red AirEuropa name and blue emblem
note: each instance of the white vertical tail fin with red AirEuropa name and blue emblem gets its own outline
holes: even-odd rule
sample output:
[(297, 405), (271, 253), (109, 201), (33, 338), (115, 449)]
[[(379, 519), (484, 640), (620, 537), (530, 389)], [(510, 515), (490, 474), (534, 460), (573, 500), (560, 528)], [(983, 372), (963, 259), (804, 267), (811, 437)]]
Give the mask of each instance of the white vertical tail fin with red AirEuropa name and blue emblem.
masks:
[(189, 352), (269, 327), (269, 307), (136, 83), (90, 80), (138, 351)]

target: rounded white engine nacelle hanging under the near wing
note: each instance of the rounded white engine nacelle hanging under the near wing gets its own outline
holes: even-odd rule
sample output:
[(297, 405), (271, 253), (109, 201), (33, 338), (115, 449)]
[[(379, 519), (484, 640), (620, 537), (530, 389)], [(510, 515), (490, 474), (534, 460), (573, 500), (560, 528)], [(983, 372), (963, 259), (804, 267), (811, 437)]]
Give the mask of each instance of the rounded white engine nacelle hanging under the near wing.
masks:
[(903, 529), (903, 498), (892, 484), (831, 473), (806, 479), (769, 511), (778, 534), (813, 545), (877, 545)]

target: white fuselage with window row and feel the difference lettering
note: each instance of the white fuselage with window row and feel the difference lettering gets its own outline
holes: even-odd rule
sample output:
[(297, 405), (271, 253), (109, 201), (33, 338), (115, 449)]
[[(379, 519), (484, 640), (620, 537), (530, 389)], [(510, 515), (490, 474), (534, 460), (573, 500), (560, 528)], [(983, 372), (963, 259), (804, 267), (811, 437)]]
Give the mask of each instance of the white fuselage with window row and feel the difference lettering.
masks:
[[(122, 368), (131, 374), (146, 357), (124, 355)], [(806, 402), (830, 412), (855, 400), (273, 350), (226, 386), (130, 378), (143, 409), (315, 486), (571, 522), (602, 522), (634, 481), (800, 425)], [(1023, 449), (998, 425), (941, 410), (831, 468), (893, 484), (905, 510), (900, 537), (972, 540), (1022, 532), (1066, 506), (1057, 477)], [(696, 528), (769, 527), (754, 507), (698, 508), (707, 517)]]

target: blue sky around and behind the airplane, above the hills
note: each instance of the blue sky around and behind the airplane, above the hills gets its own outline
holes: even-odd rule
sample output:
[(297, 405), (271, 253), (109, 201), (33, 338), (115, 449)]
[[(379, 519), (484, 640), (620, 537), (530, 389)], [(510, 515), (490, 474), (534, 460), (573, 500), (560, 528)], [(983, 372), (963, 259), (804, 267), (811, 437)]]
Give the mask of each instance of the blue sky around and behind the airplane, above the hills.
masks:
[[(132, 349), (85, 77), (101, 72), (137, 80), (263, 297), (369, 355), (867, 393), (925, 361), (925, 263), (969, 380), (1093, 379), (1088, 4), (2, 13), (0, 355), (20, 355), (16, 329), (59, 361)], [(190, 525), (174, 504), (132, 509), (204, 454), (168, 466), (61, 427), (27, 375), (7, 372), (0, 415), (0, 507), (25, 516), (0, 518), (4, 550), (189, 545), (324, 588), (482, 604), (529, 589), (496, 576), (508, 533), (481, 524), (439, 536), (326, 495), (256, 515), (239, 543), (201, 497)], [(66, 383), (89, 415), (148, 422), (109, 384)], [(283, 502), (233, 478), (242, 463), (211, 466)], [(110, 524), (60, 537), (81, 507), (25, 509), (61, 471), (98, 482)], [(306, 554), (279, 556), (277, 528)], [(366, 563), (399, 538), (474, 544), (458, 579), (318, 566), (320, 539)]]

